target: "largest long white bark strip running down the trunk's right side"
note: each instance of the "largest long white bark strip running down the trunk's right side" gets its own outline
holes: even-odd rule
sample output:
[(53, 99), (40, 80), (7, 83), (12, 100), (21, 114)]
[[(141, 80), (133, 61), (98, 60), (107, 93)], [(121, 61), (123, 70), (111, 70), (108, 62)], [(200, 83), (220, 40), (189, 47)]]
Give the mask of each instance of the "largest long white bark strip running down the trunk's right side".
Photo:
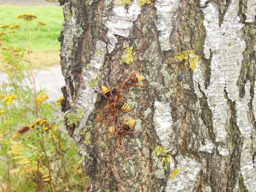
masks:
[[(204, 2), (202, 0), (201, 4)], [(209, 3), (206, 8), (202, 9), (206, 28), (205, 57), (209, 59), (210, 50), (213, 52), (210, 85), (205, 90), (205, 94), (212, 110), (216, 141), (223, 143), (226, 143), (225, 124), (227, 122), (227, 100), (224, 98), (224, 88), (226, 86), (228, 97), (232, 101), (239, 99), (236, 82), (242, 64), (242, 52), (245, 50), (245, 42), (242, 40), (244, 25), (240, 23), (238, 4), (239, 0), (230, 2), (220, 27), (217, 6)], [(228, 154), (226, 146), (218, 150), (222, 155)]]

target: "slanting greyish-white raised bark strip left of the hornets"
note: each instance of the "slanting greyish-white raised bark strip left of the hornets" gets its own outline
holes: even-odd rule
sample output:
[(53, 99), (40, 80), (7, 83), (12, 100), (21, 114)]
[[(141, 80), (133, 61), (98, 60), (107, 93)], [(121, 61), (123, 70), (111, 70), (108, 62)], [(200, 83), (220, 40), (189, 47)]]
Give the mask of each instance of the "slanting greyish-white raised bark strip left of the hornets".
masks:
[[(101, 50), (100, 53), (97, 53), (97, 50)], [(82, 108), (82, 110), (84, 111), (84, 115), (74, 133), (75, 142), (80, 141), (80, 132), (82, 131), (83, 126), (86, 124), (97, 98), (97, 92), (95, 92), (94, 88), (90, 88), (86, 84), (99, 75), (99, 70), (104, 64), (104, 56), (106, 52), (106, 44), (102, 41), (98, 41), (96, 44), (96, 51), (89, 64), (90, 66), (88, 67), (88, 69), (82, 69), (81, 79), (83, 81), (83, 85), (79, 90), (74, 107)]]

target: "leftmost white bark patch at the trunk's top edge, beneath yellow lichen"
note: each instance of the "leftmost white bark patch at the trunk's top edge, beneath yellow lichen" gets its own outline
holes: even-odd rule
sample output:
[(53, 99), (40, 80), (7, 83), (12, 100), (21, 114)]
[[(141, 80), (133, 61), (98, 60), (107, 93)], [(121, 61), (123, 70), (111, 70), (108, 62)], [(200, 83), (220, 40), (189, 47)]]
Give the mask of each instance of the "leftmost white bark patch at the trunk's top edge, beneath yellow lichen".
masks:
[(116, 6), (115, 0), (113, 3), (113, 16), (106, 21), (105, 26), (108, 28), (108, 32), (127, 37), (130, 34), (133, 22), (140, 14), (141, 7), (137, 5), (137, 0), (132, 2), (132, 6), (128, 6), (128, 10), (122, 4)]

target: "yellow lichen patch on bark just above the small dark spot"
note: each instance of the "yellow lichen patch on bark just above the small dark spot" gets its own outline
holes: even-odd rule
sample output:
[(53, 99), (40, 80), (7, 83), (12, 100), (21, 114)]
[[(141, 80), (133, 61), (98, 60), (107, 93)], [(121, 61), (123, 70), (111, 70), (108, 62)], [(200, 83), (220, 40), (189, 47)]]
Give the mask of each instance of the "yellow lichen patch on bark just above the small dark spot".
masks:
[(196, 70), (196, 63), (199, 59), (199, 56), (194, 54), (193, 50), (186, 50), (182, 53), (176, 54), (176, 56), (174, 56), (174, 58), (172, 58), (170, 62), (172, 62), (173, 59), (178, 59), (181, 62), (185, 60), (184, 65), (186, 66), (189, 63), (189, 68), (191, 69), (191, 71), (194, 71)]

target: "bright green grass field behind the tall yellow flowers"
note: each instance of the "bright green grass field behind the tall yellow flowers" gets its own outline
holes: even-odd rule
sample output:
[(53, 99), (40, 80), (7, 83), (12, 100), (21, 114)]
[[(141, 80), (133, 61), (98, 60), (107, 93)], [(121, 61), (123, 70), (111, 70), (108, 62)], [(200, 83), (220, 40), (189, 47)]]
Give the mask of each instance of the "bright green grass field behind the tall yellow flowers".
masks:
[[(20, 24), (20, 36), (26, 42), (26, 46), (22, 41), (18, 42), (18, 47), (27, 47), (29, 42), (29, 33), (26, 23), (22, 19), (16, 17), (20, 14), (34, 14), (37, 16), (32, 21), (31, 30), (32, 36), (38, 30), (36, 24), (38, 21), (44, 21), (46, 26), (42, 27), (42, 30), (38, 33), (36, 38), (32, 41), (32, 51), (35, 52), (57, 52), (60, 49), (60, 42), (58, 42), (58, 36), (61, 31), (61, 23), (64, 19), (62, 14), (62, 8), (58, 6), (20, 6), (20, 5), (0, 5), (0, 25)], [(4, 29), (0, 29), (0, 32)], [(15, 35), (15, 34), (14, 34)], [(3, 37), (3, 36), (1, 36)], [(15, 35), (15, 37), (18, 36)], [(15, 47), (16, 43), (12, 43)]]

